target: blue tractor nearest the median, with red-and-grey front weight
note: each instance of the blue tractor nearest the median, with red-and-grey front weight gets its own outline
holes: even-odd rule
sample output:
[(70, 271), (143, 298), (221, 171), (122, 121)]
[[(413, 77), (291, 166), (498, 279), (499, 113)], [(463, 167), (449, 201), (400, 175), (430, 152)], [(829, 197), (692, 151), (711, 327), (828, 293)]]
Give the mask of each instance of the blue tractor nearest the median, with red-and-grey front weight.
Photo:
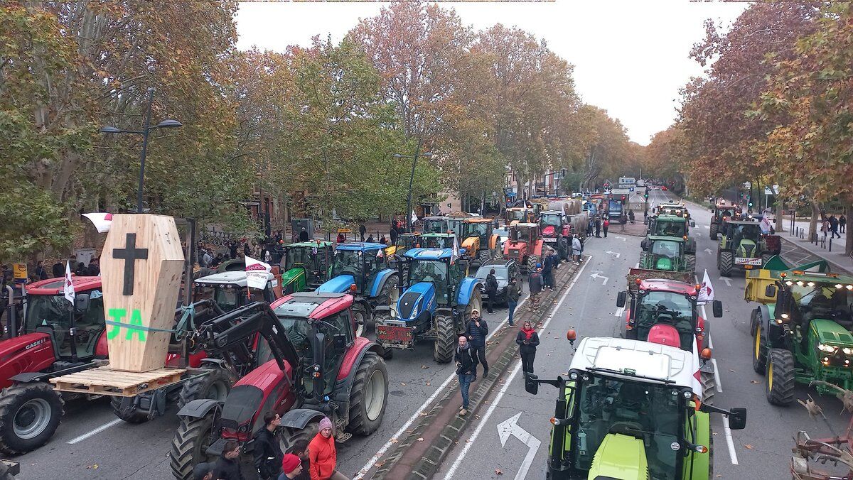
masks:
[(388, 358), (392, 349), (413, 350), (416, 341), (427, 340), (435, 361), (447, 363), (471, 311), (483, 306), (482, 280), (467, 276), (467, 260), (454, 258), (452, 248), (412, 248), (403, 261), (403, 292), (390, 311), (378, 312), (376, 342)]

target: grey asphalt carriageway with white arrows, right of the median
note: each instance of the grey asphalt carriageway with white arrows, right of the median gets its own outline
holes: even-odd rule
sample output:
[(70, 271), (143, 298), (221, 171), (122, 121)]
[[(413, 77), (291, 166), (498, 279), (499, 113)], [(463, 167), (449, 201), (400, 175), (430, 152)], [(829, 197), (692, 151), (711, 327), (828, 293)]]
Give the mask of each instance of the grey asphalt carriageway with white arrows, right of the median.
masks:
[[(665, 199), (660, 191), (652, 191), (649, 198), (652, 205)], [(803, 430), (811, 437), (827, 437), (831, 436), (830, 429), (822, 420), (809, 419), (805, 409), (796, 403), (780, 408), (765, 400), (764, 377), (754, 373), (751, 367), (748, 321), (755, 304), (743, 299), (744, 280), (740, 275), (728, 279), (730, 285), (721, 280), (717, 272), (717, 245), (708, 236), (711, 214), (701, 210), (699, 205), (691, 206), (691, 215), (697, 224), (692, 229), (698, 241), (697, 275), (701, 280), (707, 269), (716, 298), (722, 300), (724, 309), (722, 318), (710, 319), (713, 356), (722, 389), (717, 392), (715, 402), (724, 408), (745, 407), (748, 412), (746, 429), (731, 431), (728, 440), (722, 416), (711, 416), (714, 453), (711, 478), (790, 477), (788, 466), (793, 435)], [(592, 257), (540, 332), (542, 344), (537, 349), (535, 364), (540, 378), (555, 378), (568, 369), (572, 350), (565, 335), (569, 327), (575, 327), (579, 336), (618, 335), (618, 322), (623, 321), (623, 315), (616, 308), (616, 295), (624, 288), (628, 269), (639, 259), (640, 240), (639, 237), (610, 234), (607, 239), (589, 242), (586, 253)], [(711, 314), (710, 309), (708, 314)], [(504, 388), (496, 390), (489, 399), (490, 408), (480, 413), (473, 430), (466, 432), (464, 441), (460, 441), (445, 460), (437, 478), (544, 478), (549, 419), (554, 413), (557, 391), (542, 385), (538, 395), (531, 396), (524, 389), (519, 369), (520, 361), (507, 373)], [(834, 430), (843, 433), (850, 415), (840, 413), (841, 402), (834, 397), (811, 394)], [(808, 395), (808, 389), (798, 387), (798, 398), (805, 399)], [(503, 438), (499, 429), (505, 432)]]

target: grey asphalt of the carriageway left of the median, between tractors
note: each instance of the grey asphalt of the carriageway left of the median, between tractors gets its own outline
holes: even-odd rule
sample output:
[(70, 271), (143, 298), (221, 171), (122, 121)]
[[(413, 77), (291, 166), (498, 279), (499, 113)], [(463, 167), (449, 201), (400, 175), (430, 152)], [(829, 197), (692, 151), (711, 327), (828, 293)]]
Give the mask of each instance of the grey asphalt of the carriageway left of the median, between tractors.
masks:
[[(492, 315), (483, 312), (490, 330), (505, 321), (506, 313), (505, 308), (497, 308)], [(418, 409), (427, 407), (427, 400), (446, 379), (451, 375), (455, 378), (452, 363), (432, 360), (431, 344), (419, 344), (415, 351), (395, 351), (387, 368), (388, 405), (379, 430), (370, 437), (352, 437), (339, 446), (339, 470), (347, 476), (356, 477), (380, 448), (392, 445), (392, 437), (404, 435), (403, 425), (418, 417)], [(177, 408), (171, 406), (163, 417), (131, 425), (116, 419), (106, 398), (68, 402), (67, 413), (51, 441), (15, 459), (21, 465), (19, 477), (172, 478), (167, 454), (177, 430), (176, 413)]]

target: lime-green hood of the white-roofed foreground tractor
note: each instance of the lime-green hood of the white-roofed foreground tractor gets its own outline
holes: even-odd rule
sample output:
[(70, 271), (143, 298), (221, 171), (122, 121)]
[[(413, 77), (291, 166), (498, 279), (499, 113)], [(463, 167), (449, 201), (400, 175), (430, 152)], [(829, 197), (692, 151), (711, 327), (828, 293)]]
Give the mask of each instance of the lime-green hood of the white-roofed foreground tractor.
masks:
[(610, 433), (595, 452), (588, 478), (647, 480), (646, 448), (642, 440), (620, 433)]

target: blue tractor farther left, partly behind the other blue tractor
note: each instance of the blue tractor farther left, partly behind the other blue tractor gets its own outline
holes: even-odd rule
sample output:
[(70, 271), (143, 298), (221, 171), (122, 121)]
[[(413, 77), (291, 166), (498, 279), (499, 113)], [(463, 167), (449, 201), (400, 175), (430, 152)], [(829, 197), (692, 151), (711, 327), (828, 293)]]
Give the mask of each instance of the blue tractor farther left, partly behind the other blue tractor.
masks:
[(334, 250), (329, 280), (317, 292), (349, 293), (355, 298), (352, 315), (357, 335), (362, 336), (377, 309), (388, 310), (397, 299), (400, 283), (397, 271), (390, 268), (381, 243), (341, 243)]

